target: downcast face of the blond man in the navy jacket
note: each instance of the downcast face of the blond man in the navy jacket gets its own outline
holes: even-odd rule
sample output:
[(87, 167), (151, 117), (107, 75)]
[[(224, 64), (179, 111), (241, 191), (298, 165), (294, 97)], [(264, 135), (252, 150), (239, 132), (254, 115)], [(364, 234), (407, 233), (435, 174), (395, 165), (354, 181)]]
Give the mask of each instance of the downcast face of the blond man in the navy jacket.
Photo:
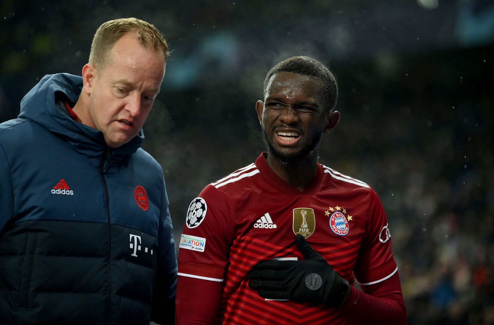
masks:
[(84, 84), (90, 96), (87, 124), (103, 132), (109, 147), (124, 145), (142, 128), (160, 91), (164, 63), (163, 52), (145, 48), (136, 33), (127, 33), (115, 43), (104, 70)]

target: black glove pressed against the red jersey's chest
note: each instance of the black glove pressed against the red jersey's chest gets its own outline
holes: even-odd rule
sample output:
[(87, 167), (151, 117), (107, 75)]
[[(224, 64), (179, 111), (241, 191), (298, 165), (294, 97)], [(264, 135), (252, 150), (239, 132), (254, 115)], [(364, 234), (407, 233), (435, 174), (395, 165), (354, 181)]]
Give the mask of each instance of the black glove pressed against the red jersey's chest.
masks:
[(348, 281), (337, 274), (302, 235), (297, 235), (297, 246), (303, 261), (260, 262), (247, 274), (248, 286), (263, 298), (325, 302), (330, 307), (341, 307), (350, 294)]

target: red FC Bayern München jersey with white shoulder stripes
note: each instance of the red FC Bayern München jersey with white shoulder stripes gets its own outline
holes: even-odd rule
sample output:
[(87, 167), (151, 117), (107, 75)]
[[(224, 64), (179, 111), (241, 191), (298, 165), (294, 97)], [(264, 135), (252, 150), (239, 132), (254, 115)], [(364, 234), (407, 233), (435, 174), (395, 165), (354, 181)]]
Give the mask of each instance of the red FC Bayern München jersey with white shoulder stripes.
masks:
[(180, 239), (178, 275), (222, 284), (219, 324), (347, 324), (326, 304), (267, 300), (248, 271), (270, 259), (302, 259), (296, 234), (353, 285), (391, 277), (397, 266), (382, 204), (370, 186), (318, 164), (303, 192), (261, 154), (193, 200)]

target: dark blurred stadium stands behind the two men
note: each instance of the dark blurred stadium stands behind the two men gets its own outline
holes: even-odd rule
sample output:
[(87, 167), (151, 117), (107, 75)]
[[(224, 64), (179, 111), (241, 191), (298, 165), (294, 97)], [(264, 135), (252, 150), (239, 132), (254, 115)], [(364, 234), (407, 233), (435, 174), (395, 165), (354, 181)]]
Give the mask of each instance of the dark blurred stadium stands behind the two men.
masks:
[(143, 148), (176, 237), (206, 184), (264, 150), (267, 71), (309, 55), (340, 89), (320, 162), (381, 198), (408, 324), (494, 324), (493, 1), (2, 0), (0, 122), (44, 75), (81, 75), (97, 27), (132, 16), (172, 50)]

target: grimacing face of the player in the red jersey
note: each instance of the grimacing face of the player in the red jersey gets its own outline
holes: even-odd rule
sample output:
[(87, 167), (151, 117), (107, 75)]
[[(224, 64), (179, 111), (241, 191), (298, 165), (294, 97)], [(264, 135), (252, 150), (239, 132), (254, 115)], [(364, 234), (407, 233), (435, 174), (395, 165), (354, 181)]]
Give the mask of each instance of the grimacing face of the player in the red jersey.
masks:
[(328, 114), (318, 95), (321, 87), (318, 78), (291, 72), (271, 77), (256, 110), (268, 153), (279, 162), (291, 164), (317, 153), (323, 132), (339, 122), (339, 113)]

